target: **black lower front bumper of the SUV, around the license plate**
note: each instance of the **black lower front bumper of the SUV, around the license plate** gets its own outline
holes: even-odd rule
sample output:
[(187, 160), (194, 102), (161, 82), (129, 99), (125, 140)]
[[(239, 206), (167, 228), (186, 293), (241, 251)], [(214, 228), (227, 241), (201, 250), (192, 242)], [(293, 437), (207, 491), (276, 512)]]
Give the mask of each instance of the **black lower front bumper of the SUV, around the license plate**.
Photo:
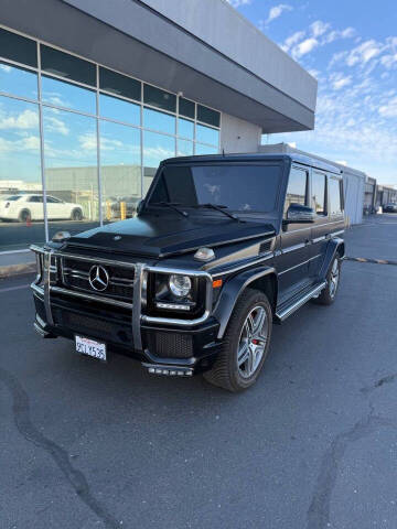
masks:
[(45, 338), (75, 335), (92, 337), (107, 344), (108, 350), (135, 358), (155, 375), (186, 375), (212, 367), (222, 342), (216, 338), (219, 324), (213, 317), (205, 322), (178, 327), (140, 322), (140, 343), (135, 342), (131, 313), (100, 306), (96, 302), (79, 303), (66, 296), (51, 296), (47, 321), (44, 290), (34, 289), (36, 317), (34, 327)]

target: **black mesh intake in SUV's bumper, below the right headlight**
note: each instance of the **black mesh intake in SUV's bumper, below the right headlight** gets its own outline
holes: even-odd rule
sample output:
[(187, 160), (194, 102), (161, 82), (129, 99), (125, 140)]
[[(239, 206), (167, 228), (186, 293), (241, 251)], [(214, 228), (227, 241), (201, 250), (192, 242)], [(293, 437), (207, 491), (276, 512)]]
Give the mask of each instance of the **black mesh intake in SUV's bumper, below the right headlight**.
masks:
[(149, 352), (160, 358), (190, 358), (193, 356), (193, 342), (190, 334), (150, 333)]

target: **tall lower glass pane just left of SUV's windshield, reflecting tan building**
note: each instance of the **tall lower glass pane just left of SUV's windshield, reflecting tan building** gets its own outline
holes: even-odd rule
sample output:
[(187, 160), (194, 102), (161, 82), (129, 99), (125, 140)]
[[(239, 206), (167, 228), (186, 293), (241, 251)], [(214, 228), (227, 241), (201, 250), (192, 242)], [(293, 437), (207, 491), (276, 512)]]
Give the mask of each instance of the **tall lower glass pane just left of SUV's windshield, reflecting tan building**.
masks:
[(100, 122), (104, 220), (132, 217), (141, 197), (140, 131)]

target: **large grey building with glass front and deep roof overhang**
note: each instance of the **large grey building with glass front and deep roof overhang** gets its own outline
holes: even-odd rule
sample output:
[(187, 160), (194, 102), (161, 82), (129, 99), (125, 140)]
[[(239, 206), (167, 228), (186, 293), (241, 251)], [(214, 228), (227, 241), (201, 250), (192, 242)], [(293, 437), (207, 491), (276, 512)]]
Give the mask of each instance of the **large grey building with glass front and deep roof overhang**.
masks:
[[(42, 194), (45, 213), (0, 222), (0, 250), (130, 215), (164, 158), (313, 128), (313, 77), (226, 0), (184, 8), (0, 0), (0, 196)], [(46, 196), (83, 222), (55, 222)]]

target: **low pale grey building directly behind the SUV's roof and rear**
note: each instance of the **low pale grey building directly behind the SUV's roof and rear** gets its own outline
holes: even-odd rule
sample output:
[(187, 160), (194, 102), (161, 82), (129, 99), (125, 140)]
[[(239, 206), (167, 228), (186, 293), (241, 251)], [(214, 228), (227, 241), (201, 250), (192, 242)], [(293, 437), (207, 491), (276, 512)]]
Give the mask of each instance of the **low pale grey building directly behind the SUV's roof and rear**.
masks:
[(356, 169), (348, 168), (347, 165), (318, 156), (316, 154), (300, 151), (299, 149), (296, 149), (288, 143), (260, 145), (259, 150), (260, 152), (283, 152), (286, 154), (290, 152), (297, 152), (337, 166), (343, 173), (346, 222), (348, 224), (360, 224), (363, 222), (364, 190), (365, 181), (367, 177), (365, 173)]

